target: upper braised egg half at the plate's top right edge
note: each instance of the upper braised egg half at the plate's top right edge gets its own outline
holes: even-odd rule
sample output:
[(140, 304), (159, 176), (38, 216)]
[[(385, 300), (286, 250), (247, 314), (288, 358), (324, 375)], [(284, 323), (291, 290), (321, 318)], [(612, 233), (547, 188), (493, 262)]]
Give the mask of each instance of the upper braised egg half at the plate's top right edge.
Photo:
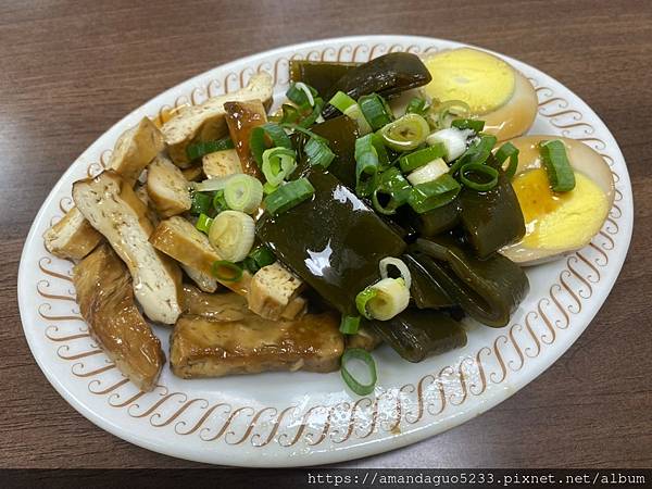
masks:
[(538, 100), (529, 80), (509, 63), (473, 48), (441, 51), (424, 59), (432, 80), (423, 93), (440, 103), (460, 100), (467, 117), (485, 121), (485, 133), (500, 141), (521, 136), (537, 115)]

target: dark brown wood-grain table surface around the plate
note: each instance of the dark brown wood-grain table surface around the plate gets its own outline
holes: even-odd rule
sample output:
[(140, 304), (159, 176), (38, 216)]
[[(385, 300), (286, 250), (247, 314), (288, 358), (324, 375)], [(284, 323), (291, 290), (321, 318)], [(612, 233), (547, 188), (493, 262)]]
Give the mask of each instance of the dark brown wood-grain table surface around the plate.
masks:
[(507, 401), (443, 435), (344, 464), (652, 466), (652, 3), (641, 1), (3, 1), (0, 5), (0, 466), (191, 467), (86, 421), (23, 336), (16, 274), (50, 188), (153, 96), (224, 62), (311, 39), (413, 34), (503, 52), (603, 118), (629, 165), (635, 235), (591, 326)]

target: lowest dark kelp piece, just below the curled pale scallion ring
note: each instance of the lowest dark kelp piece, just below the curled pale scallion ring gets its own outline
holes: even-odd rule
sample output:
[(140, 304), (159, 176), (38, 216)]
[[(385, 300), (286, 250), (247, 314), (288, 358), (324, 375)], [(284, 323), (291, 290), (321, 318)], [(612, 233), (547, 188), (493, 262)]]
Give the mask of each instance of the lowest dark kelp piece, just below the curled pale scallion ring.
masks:
[(374, 321), (371, 328), (409, 362), (421, 362), (466, 344), (466, 333), (443, 312), (406, 309), (389, 321)]

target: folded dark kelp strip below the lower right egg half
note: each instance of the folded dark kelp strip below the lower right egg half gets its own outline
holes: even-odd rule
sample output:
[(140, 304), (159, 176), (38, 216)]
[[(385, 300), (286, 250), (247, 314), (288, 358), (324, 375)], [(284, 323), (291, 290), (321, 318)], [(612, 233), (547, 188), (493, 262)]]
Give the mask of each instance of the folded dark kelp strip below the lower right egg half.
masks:
[(488, 326), (505, 326), (529, 290), (518, 265), (498, 253), (480, 260), (450, 236), (417, 239), (411, 254), (466, 314)]

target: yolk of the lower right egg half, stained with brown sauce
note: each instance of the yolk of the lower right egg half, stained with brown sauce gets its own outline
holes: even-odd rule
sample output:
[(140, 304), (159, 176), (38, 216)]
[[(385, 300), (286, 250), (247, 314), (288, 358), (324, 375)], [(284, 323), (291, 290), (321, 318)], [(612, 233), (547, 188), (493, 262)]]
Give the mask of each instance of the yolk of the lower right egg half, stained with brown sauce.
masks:
[(598, 233), (609, 212), (604, 192), (577, 172), (575, 188), (568, 192), (552, 191), (544, 168), (518, 175), (512, 186), (525, 218), (523, 243), (528, 248), (579, 248)]

